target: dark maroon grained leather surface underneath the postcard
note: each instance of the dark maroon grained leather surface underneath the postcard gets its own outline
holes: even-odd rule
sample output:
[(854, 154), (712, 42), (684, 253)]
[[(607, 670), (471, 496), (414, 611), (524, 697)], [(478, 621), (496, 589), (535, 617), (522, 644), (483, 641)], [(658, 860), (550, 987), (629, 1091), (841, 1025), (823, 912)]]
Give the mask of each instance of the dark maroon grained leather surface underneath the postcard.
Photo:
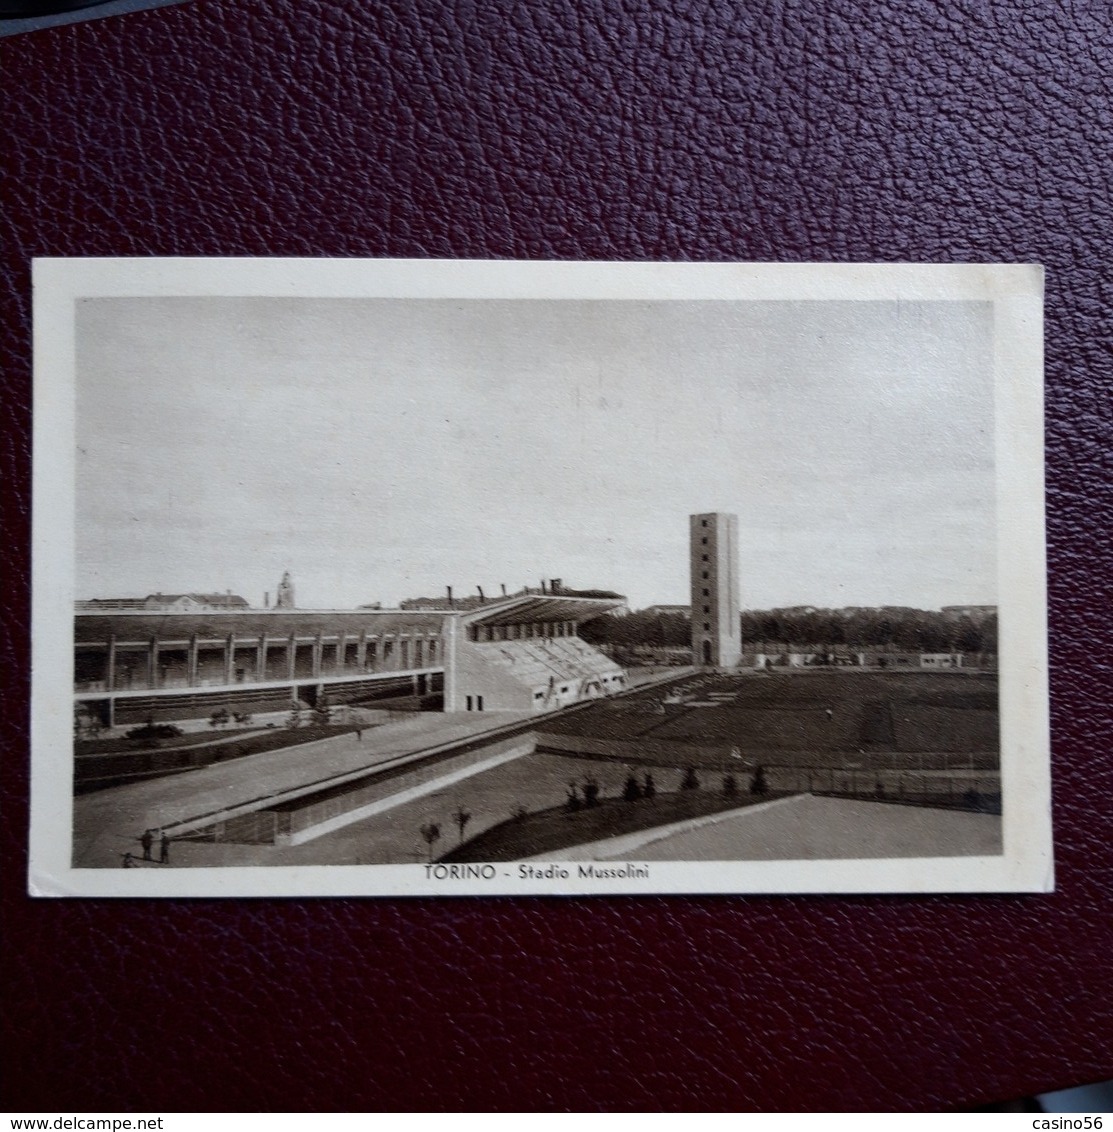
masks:
[[(0, 42), (3, 1107), (938, 1108), (1113, 1077), (1103, 5), (195, 0)], [(25, 894), (35, 255), (1047, 265), (1059, 891)]]

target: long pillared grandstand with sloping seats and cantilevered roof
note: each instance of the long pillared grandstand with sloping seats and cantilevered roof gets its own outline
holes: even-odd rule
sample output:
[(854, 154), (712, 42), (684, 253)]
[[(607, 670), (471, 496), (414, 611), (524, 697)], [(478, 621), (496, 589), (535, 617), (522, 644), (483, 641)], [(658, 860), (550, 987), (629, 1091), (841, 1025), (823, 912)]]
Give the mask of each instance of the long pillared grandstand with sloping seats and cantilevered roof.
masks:
[(625, 688), (623, 669), (577, 636), (581, 624), (625, 599), (545, 590), (464, 608), (450, 599), (447, 609), (251, 609), (228, 595), (78, 602), (77, 726), (204, 721), (220, 711), (259, 717), (323, 700), (546, 712)]

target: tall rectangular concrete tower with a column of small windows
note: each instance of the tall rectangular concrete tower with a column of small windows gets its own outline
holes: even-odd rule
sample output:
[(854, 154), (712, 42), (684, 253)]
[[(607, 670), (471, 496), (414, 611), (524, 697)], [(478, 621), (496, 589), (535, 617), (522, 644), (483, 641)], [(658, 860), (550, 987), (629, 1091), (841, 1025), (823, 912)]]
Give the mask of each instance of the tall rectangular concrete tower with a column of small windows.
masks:
[(738, 609), (738, 516), (692, 515), (692, 659), (734, 668), (742, 657)]

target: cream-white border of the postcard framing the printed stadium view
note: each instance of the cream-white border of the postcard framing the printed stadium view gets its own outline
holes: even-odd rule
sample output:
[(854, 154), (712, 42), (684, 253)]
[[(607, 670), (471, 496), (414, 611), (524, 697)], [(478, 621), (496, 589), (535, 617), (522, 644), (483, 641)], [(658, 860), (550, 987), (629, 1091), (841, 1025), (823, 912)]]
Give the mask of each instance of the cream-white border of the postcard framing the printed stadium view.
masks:
[[(38, 259), (34, 264), (29, 891), (55, 897), (1046, 892), (1053, 887), (1037, 265)], [(994, 305), (1001, 857), (653, 861), (647, 878), (439, 878), (423, 865), (77, 869), (72, 829), (75, 303), (125, 295), (983, 300)], [(631, 863), (635, 864), (635, 863)], [(610, 863), (603, 868), (620, 867)]]

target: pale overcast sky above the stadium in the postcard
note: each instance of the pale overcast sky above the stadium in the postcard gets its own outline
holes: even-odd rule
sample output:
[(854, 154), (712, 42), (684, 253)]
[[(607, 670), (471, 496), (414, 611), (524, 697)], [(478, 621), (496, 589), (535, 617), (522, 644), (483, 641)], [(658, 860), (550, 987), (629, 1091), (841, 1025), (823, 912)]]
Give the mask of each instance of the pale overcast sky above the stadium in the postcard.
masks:
[(85, 299), (77, 597), (298, 604), (541, 577), (743, 608), (990, 603), (992, 308)]

